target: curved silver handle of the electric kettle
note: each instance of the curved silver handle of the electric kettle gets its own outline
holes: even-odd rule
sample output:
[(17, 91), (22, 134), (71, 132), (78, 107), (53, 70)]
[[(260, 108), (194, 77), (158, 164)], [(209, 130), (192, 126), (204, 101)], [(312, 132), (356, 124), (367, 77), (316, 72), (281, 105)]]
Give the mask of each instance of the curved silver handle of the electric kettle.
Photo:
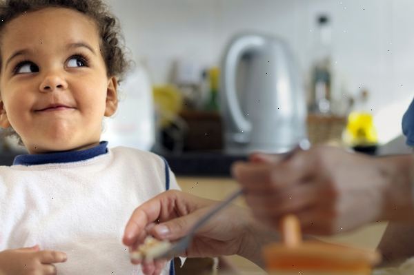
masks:
[[(246, 119), (240, 108), (240, 104), (237, 101), (236, 94), (236, 66), (239, 63), (242, 55), (255, 48), (259, 48), (264, 44), (264, 40), (261, 37), (255, 35), (249, 35), (236, 38), (233, 43), (230, 43), (227, 54), (223, 60), (223, 92), (224, 102), (228, 108), (229, 118), (235, 125), (239, 132), (243, 132), (246, 136), (250, 136), (252, 125), (250, 121)], [(226, 77), (228, 76), (228, 77)]]

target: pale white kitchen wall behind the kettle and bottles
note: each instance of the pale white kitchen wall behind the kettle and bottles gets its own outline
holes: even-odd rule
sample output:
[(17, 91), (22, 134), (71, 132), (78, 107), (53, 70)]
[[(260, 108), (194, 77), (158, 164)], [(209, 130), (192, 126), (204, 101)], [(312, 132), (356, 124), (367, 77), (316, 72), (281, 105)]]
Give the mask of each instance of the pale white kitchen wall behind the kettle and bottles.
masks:
[[(412, 0), (109, 0), (128, 47), (164, 83), (175, 59), (218, 65), (236, 32), (253, 30), (290, 44), (306, 78), (315, 17), (331, 14), (337, 99), (360, 88), (371, 92), (374, 113), (388, 103), (408, 106), (414, 94)], [(395, 123), (400, 114), (395, 114)], [(399, 128), (398, 128), (399, 129)]]

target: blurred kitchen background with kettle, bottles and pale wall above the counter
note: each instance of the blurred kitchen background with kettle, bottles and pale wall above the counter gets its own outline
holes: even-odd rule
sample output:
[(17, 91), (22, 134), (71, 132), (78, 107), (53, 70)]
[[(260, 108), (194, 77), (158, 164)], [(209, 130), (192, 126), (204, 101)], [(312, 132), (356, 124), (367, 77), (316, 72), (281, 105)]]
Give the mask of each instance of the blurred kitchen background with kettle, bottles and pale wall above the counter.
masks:
[[(157, 152), (178, 174), (222, 175), (250, 152), (305, 138), (369, 154), (408, 150), (411, 0), (108, 3), (136, 63), (105, 121), (110, 146)], [(235, 54), (246, 37), (261, 46)], [(15, 150), (4, 142), (3, 154)]]

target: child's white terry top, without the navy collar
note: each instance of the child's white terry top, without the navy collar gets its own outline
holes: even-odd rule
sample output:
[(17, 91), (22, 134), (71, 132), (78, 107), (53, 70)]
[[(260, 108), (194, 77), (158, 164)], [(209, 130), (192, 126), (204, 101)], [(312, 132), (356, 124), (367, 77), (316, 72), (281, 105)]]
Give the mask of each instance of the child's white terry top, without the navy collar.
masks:
[(80, 161), (1, 166), (0, 251), (38, 244), (66, 252), (59, 275), (142, 274), (121, 239), (133, 210), (167, 185), (179, 189), (164, 159), (127, 147)]

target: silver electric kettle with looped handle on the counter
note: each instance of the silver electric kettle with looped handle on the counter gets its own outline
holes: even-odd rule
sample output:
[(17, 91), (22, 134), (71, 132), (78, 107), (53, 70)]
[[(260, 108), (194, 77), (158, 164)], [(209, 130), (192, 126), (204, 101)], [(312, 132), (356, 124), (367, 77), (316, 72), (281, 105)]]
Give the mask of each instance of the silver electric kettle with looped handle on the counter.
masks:
[(235, 36), (222, 58), (219, 100), (226, 154), (283, 153), (307, 139), (304, 89), (281, 39)]

